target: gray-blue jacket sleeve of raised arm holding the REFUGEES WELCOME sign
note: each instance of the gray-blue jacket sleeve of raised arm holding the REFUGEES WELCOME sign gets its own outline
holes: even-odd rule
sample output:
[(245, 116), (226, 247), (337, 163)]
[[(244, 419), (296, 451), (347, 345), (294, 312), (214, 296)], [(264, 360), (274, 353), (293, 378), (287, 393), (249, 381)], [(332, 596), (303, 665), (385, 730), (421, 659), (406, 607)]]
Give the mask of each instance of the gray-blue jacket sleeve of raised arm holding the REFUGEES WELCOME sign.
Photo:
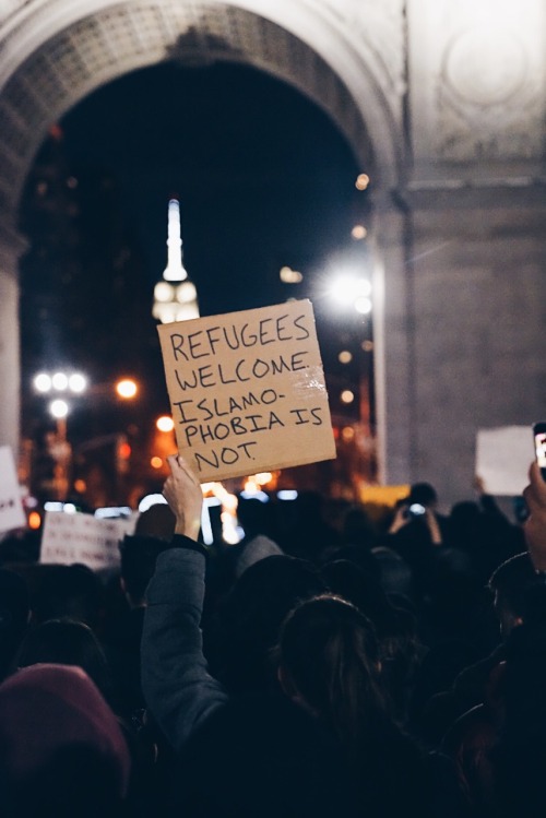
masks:
[(142, 689), (157, 724), (179, 750), (227, 692), (203, 656), (200, 629), (205, 557), (169, 548), (157, 558), (142, 636)]

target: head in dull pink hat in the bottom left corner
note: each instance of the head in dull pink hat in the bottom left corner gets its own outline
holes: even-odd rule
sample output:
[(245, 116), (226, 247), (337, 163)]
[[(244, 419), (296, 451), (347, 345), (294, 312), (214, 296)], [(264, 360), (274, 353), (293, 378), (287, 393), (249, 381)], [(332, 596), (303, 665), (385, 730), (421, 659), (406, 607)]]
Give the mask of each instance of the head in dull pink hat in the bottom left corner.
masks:
[(130, 763), (116, 716), (81, 668), (34, 665), (0, 685), (2, 815), (116, 815)]

